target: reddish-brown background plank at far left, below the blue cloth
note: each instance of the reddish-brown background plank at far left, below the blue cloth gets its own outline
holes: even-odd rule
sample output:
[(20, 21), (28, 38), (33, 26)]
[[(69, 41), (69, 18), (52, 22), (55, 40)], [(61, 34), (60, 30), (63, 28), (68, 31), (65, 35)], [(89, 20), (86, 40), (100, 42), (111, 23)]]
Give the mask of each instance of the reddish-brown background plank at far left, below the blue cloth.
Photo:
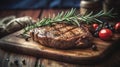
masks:
[(7, 17), (7, 16), (16, 16), (16, 17), (23, 17), (23, 16), (30, 16), (34, 20), (38, 19), (41, 10), (1, 10), (0, 11), (0, 18)]

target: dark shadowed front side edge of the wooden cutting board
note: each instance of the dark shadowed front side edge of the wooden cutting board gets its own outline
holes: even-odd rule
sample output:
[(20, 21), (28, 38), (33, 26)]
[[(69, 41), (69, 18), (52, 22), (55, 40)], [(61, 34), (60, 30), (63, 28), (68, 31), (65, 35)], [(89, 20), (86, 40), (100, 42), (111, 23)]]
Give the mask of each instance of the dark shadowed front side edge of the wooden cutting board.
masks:
[[(4, 45), (1, 45), (1, 44), (4, 44)], [(47, 58), (47, 59), (53, 59), (53, 60), (62, 61), (62, 62), (68, 62), (68, 63), (93, 64), (95, 62), (101, 61), (106, 56), (104, 54), (102, 56), (96, 55), (96, 56), (92, 56), (92, 57), (72, 57), (72, 56), (66, 56), (66, 57), (63, 58), (62, 55), (51, 54), (51, 53), (43, 52), (43, 51), (41, 52), (39, 50), (34, 50), (32, 52), (30, 51), (30, 53), (28, 53), (30, 48), (26, 48), (26, 50), (19, 50), (19, 48), (20, 49), (22, 48), (21, 46), (15, 48), (14, 45), (5, 46), (6, 44), (8, 44), (8, 43), (3, 43), (3, 41), (0, 40), (0, 47), (3, 48), (4, 50), (12, 51), (12, 52), (15, 52), (15, 53), (19, 52), (21, 54), (31, 55), (31, 56), (35, 56), (35, 57), (38, 57), (38, 58)], [(9, 48), (13, 48), (13, 49), (9, 49)], [(31, 54), (31, 53), (33, 53), (33, 54)], [(100, 53), (100, 54), (102, 54), (102, 53)], [(54, 57), (56, 57), (56, 58), (54, 58)]]

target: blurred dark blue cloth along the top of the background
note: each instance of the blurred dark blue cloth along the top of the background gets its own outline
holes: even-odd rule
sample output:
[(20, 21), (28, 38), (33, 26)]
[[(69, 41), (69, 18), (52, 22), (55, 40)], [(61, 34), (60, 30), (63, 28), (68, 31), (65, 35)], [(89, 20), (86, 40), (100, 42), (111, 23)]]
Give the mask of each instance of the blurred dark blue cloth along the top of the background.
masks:
[(79, 8), (80, 0), (1, 0), (0, 9)]

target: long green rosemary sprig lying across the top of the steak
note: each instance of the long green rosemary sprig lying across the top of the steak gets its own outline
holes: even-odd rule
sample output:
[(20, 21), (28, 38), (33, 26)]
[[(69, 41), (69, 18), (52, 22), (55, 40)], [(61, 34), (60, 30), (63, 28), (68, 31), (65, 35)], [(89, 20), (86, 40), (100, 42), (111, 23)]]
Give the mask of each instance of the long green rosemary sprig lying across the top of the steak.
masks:
[(38, 21), (35, 24), (27, 25), (24, 28), (24, 33), (26, 34), (29, 30), (41, 26), (46, 25), (52, 25), (53, 23), (67, 23), (67, 24), (73, 24), (76, 26), (80, 26), (80, 23), (84, 22), (86, 24), (91, 24), (92, 22), (98, 22), (103, 23), (101, 20), (99, 20), (100, 17), (114, 17), (112, 14), (112, 9), (108, 12), (104, 12), (101, 10), (97, 14), (93, 14), (93, 12), (90, 12), (85, 15), (76, 14), (76, 9), (71, 9), (70, 11), (61, 12), (58, 13), (57, 16), (54, 16), (52, 18), (42, 18), (40, 21)]

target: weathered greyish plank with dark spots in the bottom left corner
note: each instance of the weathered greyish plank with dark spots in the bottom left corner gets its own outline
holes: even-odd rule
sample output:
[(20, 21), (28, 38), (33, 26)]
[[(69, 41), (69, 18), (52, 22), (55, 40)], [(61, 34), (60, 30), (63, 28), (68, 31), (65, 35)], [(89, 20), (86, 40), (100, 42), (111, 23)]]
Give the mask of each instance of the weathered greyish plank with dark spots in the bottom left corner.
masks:
[(1, 67), (35, 67), (35, 57), (6, 52)]

